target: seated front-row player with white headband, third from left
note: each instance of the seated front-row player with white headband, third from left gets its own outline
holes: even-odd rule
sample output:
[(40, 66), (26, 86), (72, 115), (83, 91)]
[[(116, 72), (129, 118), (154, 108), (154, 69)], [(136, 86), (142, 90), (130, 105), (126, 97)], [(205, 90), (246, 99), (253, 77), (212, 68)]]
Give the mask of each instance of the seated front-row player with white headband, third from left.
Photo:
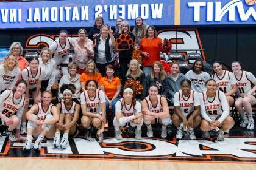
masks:
[[(68, 135), (75, 137), (78, 134), (77, 120), (80, 113), (80, 105), (72, 101), (72, 95), (76, 92), (73, 84), (63, 84), (60, 92), (63, 94), (63, 101), (57, 104), (57, 112), (60, 114), (59, 122), (56, 123), (54, 147), (66, 148)], [(60, 141), (60, 133), (63, 133)]]

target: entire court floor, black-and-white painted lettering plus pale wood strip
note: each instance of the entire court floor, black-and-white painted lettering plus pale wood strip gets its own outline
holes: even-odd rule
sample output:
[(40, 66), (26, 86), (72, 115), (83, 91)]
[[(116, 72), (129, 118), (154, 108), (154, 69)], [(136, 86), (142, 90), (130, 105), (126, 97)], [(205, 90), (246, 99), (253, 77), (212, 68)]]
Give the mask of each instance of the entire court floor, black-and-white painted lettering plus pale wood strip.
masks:
[[(0, 137), (0, 169), (256, 169), (256, 133), (234, 127), (225, 141), (202, 139), (176, 140), (176, 130), (169, 129), (168, 138), (160, 138), (160, 128), (154, 137), (135, 140), (132, 129), (123, 131), (123, 140), (116, 140), (114, 129), (104, 132), (104, 143), (97, 139), (70, 138), (68, 148), (55, 149), (51, 140), (44, 140), (40, 151), (23, 151), (25, 137), (10, 143)], [(93, 135), (96, 131), (93, 131)]]

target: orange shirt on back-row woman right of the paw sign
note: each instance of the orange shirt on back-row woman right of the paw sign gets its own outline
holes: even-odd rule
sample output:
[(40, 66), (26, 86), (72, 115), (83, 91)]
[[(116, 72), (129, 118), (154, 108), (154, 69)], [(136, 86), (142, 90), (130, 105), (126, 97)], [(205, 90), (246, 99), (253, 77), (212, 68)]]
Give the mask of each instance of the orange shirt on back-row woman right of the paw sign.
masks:
[(148, 38), (141, 39), (140, 52), (149, 53), (149, 57), (142, 57), (142, 66), (152, 66), (155, 61), (160, 61), (160, 50), (162, 39), (159, 37), (149, 40)]

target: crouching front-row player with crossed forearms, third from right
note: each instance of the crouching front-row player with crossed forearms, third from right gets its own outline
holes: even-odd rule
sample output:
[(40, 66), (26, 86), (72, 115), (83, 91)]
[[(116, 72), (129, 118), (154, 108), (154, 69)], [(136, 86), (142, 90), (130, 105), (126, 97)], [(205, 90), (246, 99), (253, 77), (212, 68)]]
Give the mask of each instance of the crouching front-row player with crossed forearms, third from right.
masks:
[(151, 124), (158, 121), (162, 125), (161, 137), (167, 137), (166, 127), (171, 123), (171, 116), (169, 114), (169, 106), (166, 98), (158, 95), (158, 88), (155, 84), (149, 87), (149, 95), (144, 98), (141, 103), (144, 123), (147, 126), (147, 136), (153, 137), (153, 129)]

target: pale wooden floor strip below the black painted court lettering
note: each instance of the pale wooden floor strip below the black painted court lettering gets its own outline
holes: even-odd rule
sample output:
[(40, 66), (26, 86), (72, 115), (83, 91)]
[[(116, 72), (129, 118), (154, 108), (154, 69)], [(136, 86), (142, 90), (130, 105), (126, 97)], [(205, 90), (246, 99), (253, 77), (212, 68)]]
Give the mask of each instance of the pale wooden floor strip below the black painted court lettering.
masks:
[(155, 161), (116, 161), (116, 160), (66, 160), (35, 158), (1, 158), (0, 169), (256, 169), (254, 163), (189, 163)]

